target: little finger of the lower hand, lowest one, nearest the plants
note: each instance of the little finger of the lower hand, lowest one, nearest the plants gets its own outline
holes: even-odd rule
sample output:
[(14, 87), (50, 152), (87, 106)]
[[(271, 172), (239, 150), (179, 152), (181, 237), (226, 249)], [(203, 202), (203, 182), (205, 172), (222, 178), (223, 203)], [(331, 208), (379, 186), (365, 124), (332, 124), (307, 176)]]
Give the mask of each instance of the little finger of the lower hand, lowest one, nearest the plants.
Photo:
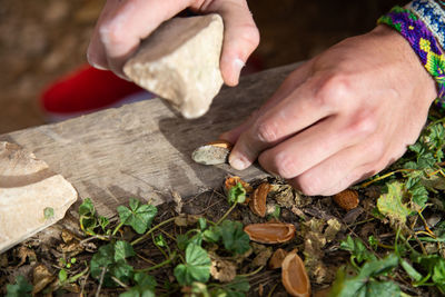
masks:
[(306, 195), (335, 195), (385, 168), (384, 146), (373, 143), (348, 147), (288, 182)]

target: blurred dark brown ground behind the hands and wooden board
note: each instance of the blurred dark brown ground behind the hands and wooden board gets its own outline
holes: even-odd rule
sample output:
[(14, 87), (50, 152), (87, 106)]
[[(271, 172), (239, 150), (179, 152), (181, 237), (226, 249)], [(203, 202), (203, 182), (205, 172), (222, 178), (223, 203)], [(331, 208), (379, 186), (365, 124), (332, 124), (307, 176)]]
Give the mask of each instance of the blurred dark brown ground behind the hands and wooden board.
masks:
[[(42, 88), (86, 63), (101, 0), (0, 0), (0, 133), (42, 125)], [(249, 1), (261, 68), (308, 59), (366, 32), (395, 0)]]

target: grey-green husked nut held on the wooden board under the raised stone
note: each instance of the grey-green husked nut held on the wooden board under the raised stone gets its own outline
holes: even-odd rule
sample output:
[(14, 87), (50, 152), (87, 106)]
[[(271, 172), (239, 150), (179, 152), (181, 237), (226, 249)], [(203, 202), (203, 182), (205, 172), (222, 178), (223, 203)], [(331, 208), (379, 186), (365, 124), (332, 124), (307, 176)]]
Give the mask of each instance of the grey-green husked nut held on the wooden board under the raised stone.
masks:
[(225, 140), (217, 140), (200, 146), (191, 154), (191, 159), (198, 164), (218, 165), (228, 160), (231, 143)]

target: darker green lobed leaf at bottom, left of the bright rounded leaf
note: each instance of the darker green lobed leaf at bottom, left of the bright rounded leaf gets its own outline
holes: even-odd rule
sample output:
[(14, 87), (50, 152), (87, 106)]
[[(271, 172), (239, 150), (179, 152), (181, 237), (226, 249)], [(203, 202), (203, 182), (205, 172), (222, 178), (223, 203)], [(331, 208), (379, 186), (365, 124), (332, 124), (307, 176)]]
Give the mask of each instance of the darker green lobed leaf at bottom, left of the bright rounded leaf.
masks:
[(116, 244), (110, 242), (101, 246), (91, 258), (91, 276), (99, 279), (102, 271), (106, 270), (103, 275), (105, 286), (116, 286), (111, 276), (117, 277), (122, 283), (128, 283), (132, 277), (134, 268), (127, 264), (126, 258), (134, 255), (135, 251), (127, 241), (119, 240)]

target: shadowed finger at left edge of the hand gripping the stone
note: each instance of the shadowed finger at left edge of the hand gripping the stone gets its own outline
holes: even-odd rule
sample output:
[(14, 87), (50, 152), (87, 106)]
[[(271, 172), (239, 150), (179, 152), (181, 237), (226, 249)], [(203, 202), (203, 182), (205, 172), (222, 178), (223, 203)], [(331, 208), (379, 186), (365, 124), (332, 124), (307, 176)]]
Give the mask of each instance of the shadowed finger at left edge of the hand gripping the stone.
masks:
[(111, 11), (113, 11), (117, 8), (118, 3), (119, 2), (116, 0), (109, 0), (106, 2), (102, 12), (100, 13), (97, 24), (95, 27), (95, 30), (91, 34), (90, 44), (88, 46), (87, 50), (88, 62), (92, 67), (100, 70), (108, 69), (108, 61), (103, 43), (100, 40), (99, 27), (103, 22), (103, 19), (108, 18)]

